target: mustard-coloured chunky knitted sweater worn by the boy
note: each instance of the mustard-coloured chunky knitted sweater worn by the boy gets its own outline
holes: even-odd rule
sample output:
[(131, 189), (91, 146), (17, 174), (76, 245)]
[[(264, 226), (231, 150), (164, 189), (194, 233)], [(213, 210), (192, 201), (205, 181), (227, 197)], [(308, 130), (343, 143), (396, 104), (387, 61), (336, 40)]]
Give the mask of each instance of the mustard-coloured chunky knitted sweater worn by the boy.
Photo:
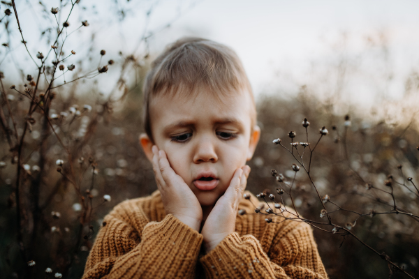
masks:
[(252, 202), (260, 203), (254, 195), (242, 199), (239, 209), (247, 214), (237, 215), (235, 232), (207, 255), (200, 253), (203, 235), (166, 215), (158, 190), (122, 202), (105, 216), (83, 279), (328, 278), (311, 227), (266, 223)]

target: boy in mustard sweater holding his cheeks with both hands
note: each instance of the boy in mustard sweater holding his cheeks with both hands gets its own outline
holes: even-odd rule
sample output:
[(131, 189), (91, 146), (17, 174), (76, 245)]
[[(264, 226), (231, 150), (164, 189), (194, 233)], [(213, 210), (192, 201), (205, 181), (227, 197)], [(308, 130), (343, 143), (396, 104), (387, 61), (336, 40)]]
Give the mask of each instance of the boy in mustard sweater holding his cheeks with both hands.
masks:
[(242, 199), (260, 128), (235, 52), (178, 40), (144, 94), (140, 144), (159, 190), (105, 216), (83, 278), (327, 278), (309, 225), (267, 223)]

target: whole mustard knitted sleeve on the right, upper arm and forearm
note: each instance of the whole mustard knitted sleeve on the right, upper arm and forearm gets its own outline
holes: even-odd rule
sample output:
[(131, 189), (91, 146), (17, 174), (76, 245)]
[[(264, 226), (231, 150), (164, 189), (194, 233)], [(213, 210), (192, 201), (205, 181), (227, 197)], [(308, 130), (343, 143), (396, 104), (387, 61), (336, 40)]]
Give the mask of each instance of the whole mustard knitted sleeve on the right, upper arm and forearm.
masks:
[(200, 264), (207, 278), (328, 278), (311, 228), (305, 223), (274, 239), (269, 255), (255, 236), (234, 232), (201, 257)]

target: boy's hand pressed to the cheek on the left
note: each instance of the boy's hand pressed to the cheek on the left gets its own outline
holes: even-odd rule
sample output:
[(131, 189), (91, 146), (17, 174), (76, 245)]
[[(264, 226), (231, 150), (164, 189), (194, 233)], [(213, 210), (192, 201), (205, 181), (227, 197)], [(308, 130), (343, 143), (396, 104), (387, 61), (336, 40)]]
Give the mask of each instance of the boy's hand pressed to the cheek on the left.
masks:
[(166, 213), (199, 232), (203, 210), (185, 181), (170, 167), (166, 152), (153, 146), (153, 170)]

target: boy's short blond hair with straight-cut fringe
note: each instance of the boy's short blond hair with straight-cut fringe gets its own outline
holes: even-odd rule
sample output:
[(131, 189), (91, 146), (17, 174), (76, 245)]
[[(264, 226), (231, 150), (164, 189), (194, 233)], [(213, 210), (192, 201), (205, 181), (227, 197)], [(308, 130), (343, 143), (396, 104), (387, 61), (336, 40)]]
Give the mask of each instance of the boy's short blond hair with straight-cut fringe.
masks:
[(153, 97), (161, 94), (198, 92), (204, 86), (219, 97), (245, 89), (251, 95), (251, 128), (256, 125), (256, 106), (251, 85), (237, 54), (226, 45), (203, 38), (181, 38), (153, 62), (144, 84), (143, 125), (153, 141), (149, 107)]

